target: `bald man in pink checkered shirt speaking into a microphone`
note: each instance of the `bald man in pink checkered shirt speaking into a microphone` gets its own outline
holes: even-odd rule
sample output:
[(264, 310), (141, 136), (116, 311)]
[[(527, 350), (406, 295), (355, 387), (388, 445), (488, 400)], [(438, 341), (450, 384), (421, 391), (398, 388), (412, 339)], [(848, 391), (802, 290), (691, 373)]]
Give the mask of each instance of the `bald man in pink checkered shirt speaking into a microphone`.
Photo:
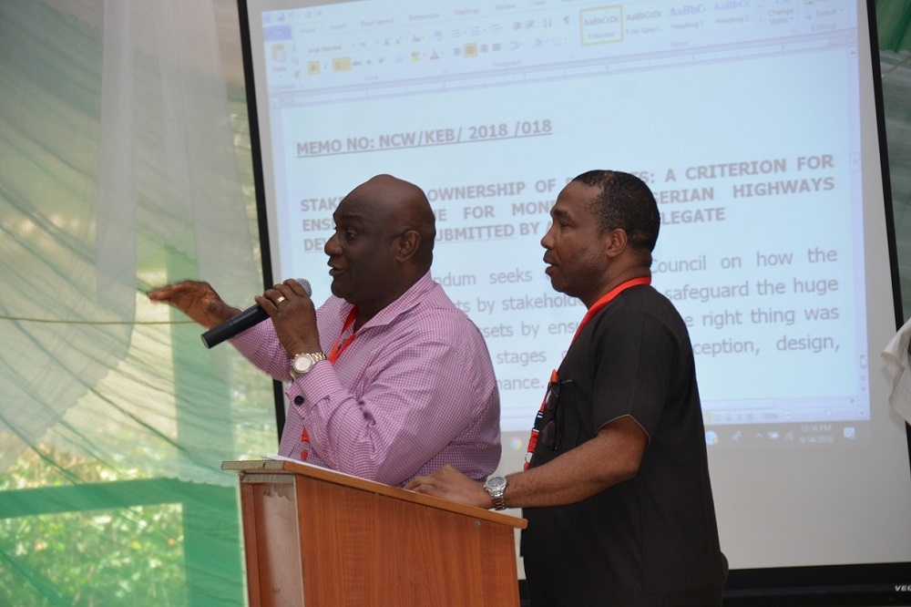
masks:
[[(389, 485), (445, 464), (486, 478), (500, 458), (499, 395), (484, 339), (430, 275), (433, 211), (423, 190), (378, 175), (333, 213), (330, 297), (300, 283), (256, 303), (271, 318), (231, 340), (288, 382), (279, 453)], [(239, 314), (208, 283), (148, 294), (211, 328)]]

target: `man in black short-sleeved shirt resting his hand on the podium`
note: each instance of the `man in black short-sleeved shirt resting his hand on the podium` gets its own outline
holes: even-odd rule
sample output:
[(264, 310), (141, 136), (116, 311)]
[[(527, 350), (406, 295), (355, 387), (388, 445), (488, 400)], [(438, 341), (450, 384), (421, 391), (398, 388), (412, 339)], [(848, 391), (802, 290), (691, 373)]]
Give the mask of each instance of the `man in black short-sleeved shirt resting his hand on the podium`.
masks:
[(727, 561), (690, 336), (650, 286), (655, 199), (632, 175), (595, 170), (550, 214), (548, 276), (589, 311), (551, 377), (530, 466), (486, 485), (441, 468), (406, 489), (523, 508), (534, 605), (720, 605)]

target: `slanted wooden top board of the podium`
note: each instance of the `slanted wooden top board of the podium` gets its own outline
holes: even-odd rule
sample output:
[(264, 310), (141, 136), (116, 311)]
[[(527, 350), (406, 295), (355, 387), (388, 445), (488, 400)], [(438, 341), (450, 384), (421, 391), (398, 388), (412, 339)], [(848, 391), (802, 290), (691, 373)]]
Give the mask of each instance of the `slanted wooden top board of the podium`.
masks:
[(343, 485), (352, 489), (369, 491), (393, 499), (402, 499), (404, 501), (422, 504), (435, 509), (448, 510), (450, 512), (455, 512), (456, 514), (475, 517), (476, 519), (487, 520), (501, 525), (508, 525), (509, 527), (517, 529), (526, 529), (528, 524), (528, 521), (523, 518), (504, 514), (503, 512), (476, 508), (475, 506), (466, 506), (448, 499), (435, 498), (423, 493), (415, 493), (414, 491), (408, 491), (399, 487), (391, 487), (389, 485), (384, 485), (383, 483), (375, 482), (374, 480), (353, 477), (350, 474), (336, 472), (329, 468), (321, 468), (304, 462), (284, 459), (223, 461), (221, 462), (221, 469), (229, 472), (238, 472), (241, 474), (241, 477), (246, 478), (255, 477), (257, 474), (262, 474), (264, 476), (274, 474), (300, 475), (335, 483), (337, 485)]

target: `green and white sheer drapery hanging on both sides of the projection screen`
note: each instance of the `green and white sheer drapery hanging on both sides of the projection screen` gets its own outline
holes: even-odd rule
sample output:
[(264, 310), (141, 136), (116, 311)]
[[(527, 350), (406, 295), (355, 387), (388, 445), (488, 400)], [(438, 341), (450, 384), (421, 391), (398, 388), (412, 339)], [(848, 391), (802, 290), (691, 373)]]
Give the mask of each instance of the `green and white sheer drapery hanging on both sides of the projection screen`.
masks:
[[(876, 3), (906, 310), (911, 7)], [(234, 0), (0, 2), (0, 604), (244, 604), (271, 382), (148, 304), (261, 292)]]

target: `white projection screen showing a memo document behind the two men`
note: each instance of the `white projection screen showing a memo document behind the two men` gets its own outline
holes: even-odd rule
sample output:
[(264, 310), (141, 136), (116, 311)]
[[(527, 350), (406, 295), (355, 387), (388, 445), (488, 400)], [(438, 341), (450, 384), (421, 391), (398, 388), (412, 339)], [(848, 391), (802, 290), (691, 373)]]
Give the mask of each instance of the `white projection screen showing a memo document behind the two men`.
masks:
[(496, 367), (501, 471), (585, 311), (543, 272), (550, 206), (624, 170), (660, 205), (653, 284), (691, 331), (732, 573), (911, 561), (865, 3), (239, 5), (267, 272), (322, 303), (338, 201), (420, 185), (435, 279)]

